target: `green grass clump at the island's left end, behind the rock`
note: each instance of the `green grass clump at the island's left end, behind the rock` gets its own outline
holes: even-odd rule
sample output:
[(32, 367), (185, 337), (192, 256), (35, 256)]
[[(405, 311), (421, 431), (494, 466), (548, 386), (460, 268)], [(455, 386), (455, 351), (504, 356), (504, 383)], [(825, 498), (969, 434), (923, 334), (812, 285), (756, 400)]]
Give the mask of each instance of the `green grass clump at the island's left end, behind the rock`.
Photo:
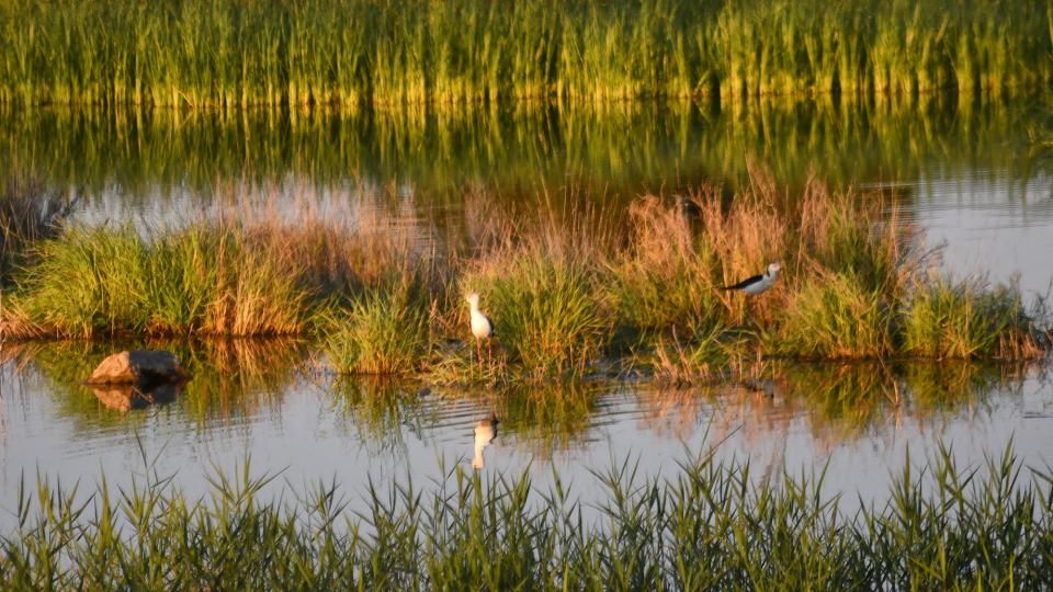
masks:
[(306, 289), (231, 230), (191, 227), (147, 241), (131, 226), (71, 227), (36, 257), (4, 311), (11, 337), (306, 329)]

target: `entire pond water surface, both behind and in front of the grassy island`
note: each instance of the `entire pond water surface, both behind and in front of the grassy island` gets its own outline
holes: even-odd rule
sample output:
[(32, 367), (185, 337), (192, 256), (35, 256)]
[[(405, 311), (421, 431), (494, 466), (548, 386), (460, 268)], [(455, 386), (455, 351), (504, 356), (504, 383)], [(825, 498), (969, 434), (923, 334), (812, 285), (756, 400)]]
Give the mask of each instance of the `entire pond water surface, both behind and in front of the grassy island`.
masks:
[[(956, 274), (1018, 277), (1028, 297), (1053, 281), (1053, 117), (1044, 103), (294, 115), (3, 112), (0, 164), (77, 195), (75, 216), (89, 223), (178, 223), (218, 183), (276, 187), (290, 204), (306, 193), (349, 212), (394, 201), (456, 228), (468, 191), (627, 202), (703, 182), (734, 187), (749, 182), (755, 163), (790, 187), (814, 174), (895, 191), (898, 219), (943, 244), (942, 265)], [(424, 483), (455, 465), (472, 470), (475, 426), (491, 413), (499, 424), (478, 451), (482, 470), (529, 471), (544, 488), (555, 469), (586, 501), (598, 487), (591, 470), (629, 458), (642, 475), (671, 475), (686, 454), (711, 446), (748, 459), (758, 476), (825, 467), (825, 490), (849, 501), (881, 501), (907, 449), (920, 465), (940, 443), (963, 466), (982, 466), (1010, 441), (1028, 466), (1053, 460), (1053, 388), (1042, 363), (773, 361), (759, 388), (593, 380), (465, 391), (338, 379), (313, 369), (305, 343), (151, 342), (190, 360), (194, 378), (171, 402), (125, 411), (79, 382), (128, 345), (144, 344), (5, 345), (4, 524), (23, 479), (39, 473), (93, 490), (105, 475), (111, 487), (126, 485), (144, 474), (144, 454), (193, 496), (208, 491), (216, 469), (248, 457), (254, 471), (294, 489), (336, 480), (354, 500), (371, 479)]]

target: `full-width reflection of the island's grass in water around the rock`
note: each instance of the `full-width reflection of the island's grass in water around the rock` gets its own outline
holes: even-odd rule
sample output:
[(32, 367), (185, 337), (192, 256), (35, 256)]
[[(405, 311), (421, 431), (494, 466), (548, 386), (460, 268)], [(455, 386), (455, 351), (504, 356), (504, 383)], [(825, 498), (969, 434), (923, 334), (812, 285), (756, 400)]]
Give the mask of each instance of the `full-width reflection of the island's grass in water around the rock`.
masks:
[[(273, 424), (281, 433), (283, 413), (293, 410), (325, 415), (327, 429), (336, 430), (326, 437), (352, 434), (356, 446), (377, 458), (397, 458), (410, 449), (445, 452), (448, 446), (455, 446), (454, 454), (466, 453), (471, 426), (476, 468), (489, 460), (486, 453), (498, 434), (502, 451), (550, 462), (557, 455), (573, 457), (626, 424), (663, 441), (733, 437), (750, 451), (767, 451), (778, 464), (791, 436), (799, 442), (803, 436), (816, 452), (829, 452), (865, 439), (891, 443), (901, 433), (939, 434), (951, 422), (983, 426), (995, 417), (996, 406), (1020, 405), (1026, 379), (1042, 379), (1034, 366), (1022, 364), (775, 362), (748, 383), (688, 388), (609, 380), (517, 383), (473, 392), (417, 380), (316, 374), (304, 368), (309, 348), (296, 342), (140, 345), (176, 352), (193, 375), (181, 392), (154, 394), (152, 402), (171, 402), (151, 405), (148, 411), (143, 409), (149, 399), (97, 394), (80, 384), (104, 354), (134, 343), (8, 345), (0, 350), (0, 361), (8, 363), (4, 372), (21, 367), (20, 380), (52, 394), (56, 419), (71, 420), (78, 440), (136, 430), (158, 414), (190, 426), (199, 437), (229, 428), (247, 434), (254, 424)], [(26, 389), (7, 386), (4, 397), (19, 392), (25, 396)]]

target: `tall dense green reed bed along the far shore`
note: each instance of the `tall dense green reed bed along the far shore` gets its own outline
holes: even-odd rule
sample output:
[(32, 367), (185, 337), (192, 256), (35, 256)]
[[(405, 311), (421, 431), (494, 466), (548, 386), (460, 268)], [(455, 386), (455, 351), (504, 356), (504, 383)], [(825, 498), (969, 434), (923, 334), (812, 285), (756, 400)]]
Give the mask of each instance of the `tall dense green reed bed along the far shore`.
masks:
[(1049, 1), (30, 0), (0, 102), (389, 105), (1044, 88)]

